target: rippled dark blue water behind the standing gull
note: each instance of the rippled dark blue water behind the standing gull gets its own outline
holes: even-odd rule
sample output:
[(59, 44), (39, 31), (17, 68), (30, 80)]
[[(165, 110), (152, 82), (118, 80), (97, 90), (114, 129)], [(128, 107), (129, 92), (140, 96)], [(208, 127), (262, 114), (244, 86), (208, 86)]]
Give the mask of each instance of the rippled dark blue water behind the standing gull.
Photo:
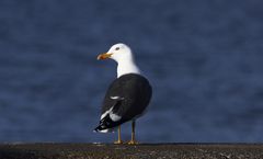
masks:
[(139, 140), (263, 141), (262, 4), (0, 1), (0, 141), (114, 140), (92, 129), (116, 77), (95, 58), (117, 42), (153, 87)]

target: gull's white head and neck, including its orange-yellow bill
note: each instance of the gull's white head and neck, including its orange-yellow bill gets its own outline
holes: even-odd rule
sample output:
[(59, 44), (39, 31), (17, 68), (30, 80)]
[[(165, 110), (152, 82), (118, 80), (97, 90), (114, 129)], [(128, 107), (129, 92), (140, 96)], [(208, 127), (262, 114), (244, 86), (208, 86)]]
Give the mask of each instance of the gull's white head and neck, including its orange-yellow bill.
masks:
[(125, 73), (140, 73), (135, 64), (132, 49), (122, 43), (113, 45), (107, 53), (100, 54), (98, 60), (111, 58), (115, 60), (117, 66), (117, 77)]

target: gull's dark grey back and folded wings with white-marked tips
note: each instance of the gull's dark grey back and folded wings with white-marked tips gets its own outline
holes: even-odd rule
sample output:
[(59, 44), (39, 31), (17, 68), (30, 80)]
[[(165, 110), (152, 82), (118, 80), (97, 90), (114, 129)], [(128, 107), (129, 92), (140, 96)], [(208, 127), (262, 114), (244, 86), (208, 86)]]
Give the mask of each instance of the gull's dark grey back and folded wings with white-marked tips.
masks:
[(114, 80), (105, 94), (96, 129), (113, 128), (139, 116), (150, 98), (151, 87), (142, 76), (129, 73)]

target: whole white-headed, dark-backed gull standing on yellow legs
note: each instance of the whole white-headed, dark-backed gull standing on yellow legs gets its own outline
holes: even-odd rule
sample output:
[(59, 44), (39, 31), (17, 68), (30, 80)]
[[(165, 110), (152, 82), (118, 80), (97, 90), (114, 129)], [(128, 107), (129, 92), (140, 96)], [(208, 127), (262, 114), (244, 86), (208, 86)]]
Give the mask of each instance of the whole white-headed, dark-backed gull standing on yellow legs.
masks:
[(151, 86), (136, 65), (129, 46), (115, 44), (107, 53), (98, 56), (98, 60), (107, 58), (117, 63), (117, 78), (106, 91), (102, 102), (101, 120), (94, 132), (108, 133), (118, 128), (118, 139), (114, 144), (123, 144), (121, 125), (132, 121), (132, 139), (128, 144), (138, 144), (135, 139), (135, 124), (149, 105)]

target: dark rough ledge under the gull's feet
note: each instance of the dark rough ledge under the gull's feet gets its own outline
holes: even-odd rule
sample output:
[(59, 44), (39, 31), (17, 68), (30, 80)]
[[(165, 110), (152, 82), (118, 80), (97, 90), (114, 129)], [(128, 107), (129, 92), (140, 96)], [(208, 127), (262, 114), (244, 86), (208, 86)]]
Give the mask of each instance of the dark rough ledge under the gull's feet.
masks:
[(263, 159), (260, 144), (2, 144), (0, 159)]

